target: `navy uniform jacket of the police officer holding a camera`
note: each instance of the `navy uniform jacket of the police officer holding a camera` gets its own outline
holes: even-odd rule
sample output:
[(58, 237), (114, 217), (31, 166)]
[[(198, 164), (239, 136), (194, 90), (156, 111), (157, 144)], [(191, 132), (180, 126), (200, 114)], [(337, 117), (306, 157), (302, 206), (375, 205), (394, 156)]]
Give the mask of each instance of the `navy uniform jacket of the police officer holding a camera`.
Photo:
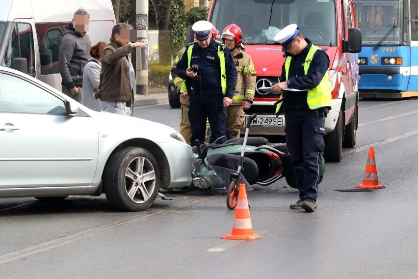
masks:
[[(192, 94), (202, 94), (202, 95), (216, 95), (222, 94), (221, 86), (221, 64), (218, 56), (218, 45), (223, 44), (216, 42), (214, 39), (210, 39), (209, 46), (206, 48), (201, 48), (197, 42), (193, 42), (187, 47), (192, 47), (192, 55), (190, 64), (188, 63), (187, 58), (187, 47), (182, 58), (178, 61), (176, 65), (177, 75), (186, 81), (187, 92), (189, 96)], [(232, 58), (231, 52), (228, 48), (223, 48), (223, 53), (225, 56), (225, 73), (226, 73), (226, 92), (225, 96), (232, 98), (235, 92), (236, 85), (236, 69), (234, 60)], [(186, 75), (187, 67), (193, 64), (199, 64), (200, 71), (199, 76), (201, 81), (197, 78), (190, 79)], [(193, 90), (190, 87), (193, 87)]]

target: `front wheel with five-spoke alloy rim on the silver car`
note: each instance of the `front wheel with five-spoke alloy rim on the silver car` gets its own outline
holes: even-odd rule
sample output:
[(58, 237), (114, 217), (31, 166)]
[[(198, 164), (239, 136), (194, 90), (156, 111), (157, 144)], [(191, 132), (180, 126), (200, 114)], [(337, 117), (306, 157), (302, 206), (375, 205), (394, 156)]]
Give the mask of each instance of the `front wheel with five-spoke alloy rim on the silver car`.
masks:
[(144, 148), (123, 148), (109, 159), (104, 181), (105, 194), (112, 206), (125, 211), (146, 210), (158, 195), (157, 160)]

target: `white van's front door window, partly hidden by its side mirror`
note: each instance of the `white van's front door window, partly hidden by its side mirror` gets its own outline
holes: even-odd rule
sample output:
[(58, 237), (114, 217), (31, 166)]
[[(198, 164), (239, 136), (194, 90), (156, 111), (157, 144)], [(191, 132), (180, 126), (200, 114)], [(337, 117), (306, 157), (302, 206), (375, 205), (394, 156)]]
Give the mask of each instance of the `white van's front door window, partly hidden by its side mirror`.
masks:
[(13, 23), (4, 53), (4, 66), (12, 68), (13, 59), (26, 58), (27, 73), (35, 76), (35, 49), (32, 27), (27, 23)]

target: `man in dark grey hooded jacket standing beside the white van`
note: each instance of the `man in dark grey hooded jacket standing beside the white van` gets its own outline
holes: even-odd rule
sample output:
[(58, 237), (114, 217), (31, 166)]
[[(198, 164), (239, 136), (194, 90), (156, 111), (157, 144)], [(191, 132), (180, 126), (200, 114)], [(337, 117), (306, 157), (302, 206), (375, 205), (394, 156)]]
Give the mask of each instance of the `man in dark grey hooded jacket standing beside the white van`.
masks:
[(59, 73), (62, 78), (62, 92), (81, 103), (83, 71), (90, 58), (91, 42), (86, 34), (89, 14), (79, 8), (59, 43)]

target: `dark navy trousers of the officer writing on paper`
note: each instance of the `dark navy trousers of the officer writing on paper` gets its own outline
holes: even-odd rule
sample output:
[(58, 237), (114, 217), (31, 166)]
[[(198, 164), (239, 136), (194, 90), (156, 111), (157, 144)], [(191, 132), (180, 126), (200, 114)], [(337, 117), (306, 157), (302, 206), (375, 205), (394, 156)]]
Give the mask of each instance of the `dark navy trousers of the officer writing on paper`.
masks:
[(295, 109), (285, 112), (286, 144), (295, 170), (299, 199), (318, 197), (321, 155), (324, 150), (323, 112)]

